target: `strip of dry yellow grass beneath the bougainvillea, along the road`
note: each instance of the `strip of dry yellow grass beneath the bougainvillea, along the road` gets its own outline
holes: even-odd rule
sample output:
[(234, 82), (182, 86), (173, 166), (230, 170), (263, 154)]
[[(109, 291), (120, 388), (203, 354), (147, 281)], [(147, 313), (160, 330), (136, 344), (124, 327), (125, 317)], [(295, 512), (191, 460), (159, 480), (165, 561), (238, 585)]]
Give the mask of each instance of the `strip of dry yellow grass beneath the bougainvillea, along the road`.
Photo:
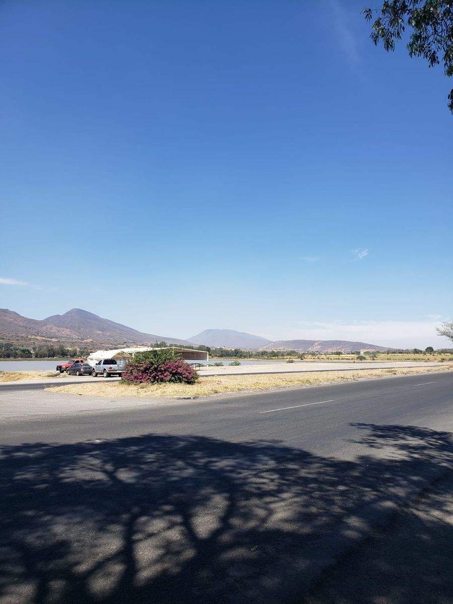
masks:
[(361, 371), (313, 371), (313, 373), (280, 373), (256, 375), (229, 375), (201, 377), (198, 384), (155, 384), (126, 385), (120, 382), (83, 382), (48, 388), (50, 392), (82, 394), (85, 396), (110, 397), (191, 397), (240, 392), (243, 390), (266, 390), (288, 386), (316, 386), (337, 381), (390, 377), (417, 373), (452, 371), (453, 365), (444, 367), (405, 367), (389, 369), (367, 369)]

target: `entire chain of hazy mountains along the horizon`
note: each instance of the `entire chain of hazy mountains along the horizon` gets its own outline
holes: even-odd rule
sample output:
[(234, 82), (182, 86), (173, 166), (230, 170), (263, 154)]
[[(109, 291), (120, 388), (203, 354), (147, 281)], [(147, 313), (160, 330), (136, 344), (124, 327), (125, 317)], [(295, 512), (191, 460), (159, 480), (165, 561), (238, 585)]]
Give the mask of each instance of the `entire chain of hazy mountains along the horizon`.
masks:
[(205, 344), (213, 347), (249, 350), (298, 350), (300, 352), (351, 352), (388, 348), (347, 340), (278, 340), (272, 342), (261, 336), (233, 329), (206, 329), (188, 340), (139, 332), (132, 327), (104, 319), (92, 312), (73, 308), (64, 315), (52, 315), (43, 320), (29, 319), (8, 309), (0, 309), (0, 341), (34, 346), (43, 343), (96, 348), (120, 348), (130, 344), (151, 345), (165, 341), (169, 344)]

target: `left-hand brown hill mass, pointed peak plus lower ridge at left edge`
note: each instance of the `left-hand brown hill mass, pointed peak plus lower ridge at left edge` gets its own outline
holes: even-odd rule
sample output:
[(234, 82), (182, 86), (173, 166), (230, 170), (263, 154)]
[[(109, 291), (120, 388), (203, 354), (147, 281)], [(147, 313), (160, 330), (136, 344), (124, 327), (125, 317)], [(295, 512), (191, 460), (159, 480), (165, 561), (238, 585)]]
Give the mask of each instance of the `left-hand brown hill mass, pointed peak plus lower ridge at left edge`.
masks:
[(64, 315), (48, 316), (42, 321), (29, 319), (13, 310), (0, 309), (0, 340), (18, 345), (31, 346), (47, 341), (92, 348), (124, 344), (149, 345), (162, 340), (169, 344), (189, 344), (183, 339), (138, 332), (132, 327), (76, 308)]

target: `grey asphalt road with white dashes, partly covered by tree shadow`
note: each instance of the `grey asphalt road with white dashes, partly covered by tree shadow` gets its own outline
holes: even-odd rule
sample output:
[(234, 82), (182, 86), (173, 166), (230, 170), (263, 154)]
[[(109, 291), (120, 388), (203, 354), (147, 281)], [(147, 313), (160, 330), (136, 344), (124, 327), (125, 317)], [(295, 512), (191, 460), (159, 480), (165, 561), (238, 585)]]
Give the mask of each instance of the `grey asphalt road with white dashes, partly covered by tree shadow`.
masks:
[(452, 393), (443, 373), (12, 419), (0, 602), (300, 604), (451, 471)]

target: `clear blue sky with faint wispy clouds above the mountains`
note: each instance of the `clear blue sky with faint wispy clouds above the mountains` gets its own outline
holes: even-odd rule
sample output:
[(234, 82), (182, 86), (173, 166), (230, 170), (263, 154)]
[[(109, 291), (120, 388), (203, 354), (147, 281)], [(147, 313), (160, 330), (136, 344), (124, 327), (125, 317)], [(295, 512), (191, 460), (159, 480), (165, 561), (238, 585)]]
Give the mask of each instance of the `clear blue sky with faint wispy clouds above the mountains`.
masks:
[(451, 82), (364, 0), (4, 0), (0, 306), (442, 346)]

